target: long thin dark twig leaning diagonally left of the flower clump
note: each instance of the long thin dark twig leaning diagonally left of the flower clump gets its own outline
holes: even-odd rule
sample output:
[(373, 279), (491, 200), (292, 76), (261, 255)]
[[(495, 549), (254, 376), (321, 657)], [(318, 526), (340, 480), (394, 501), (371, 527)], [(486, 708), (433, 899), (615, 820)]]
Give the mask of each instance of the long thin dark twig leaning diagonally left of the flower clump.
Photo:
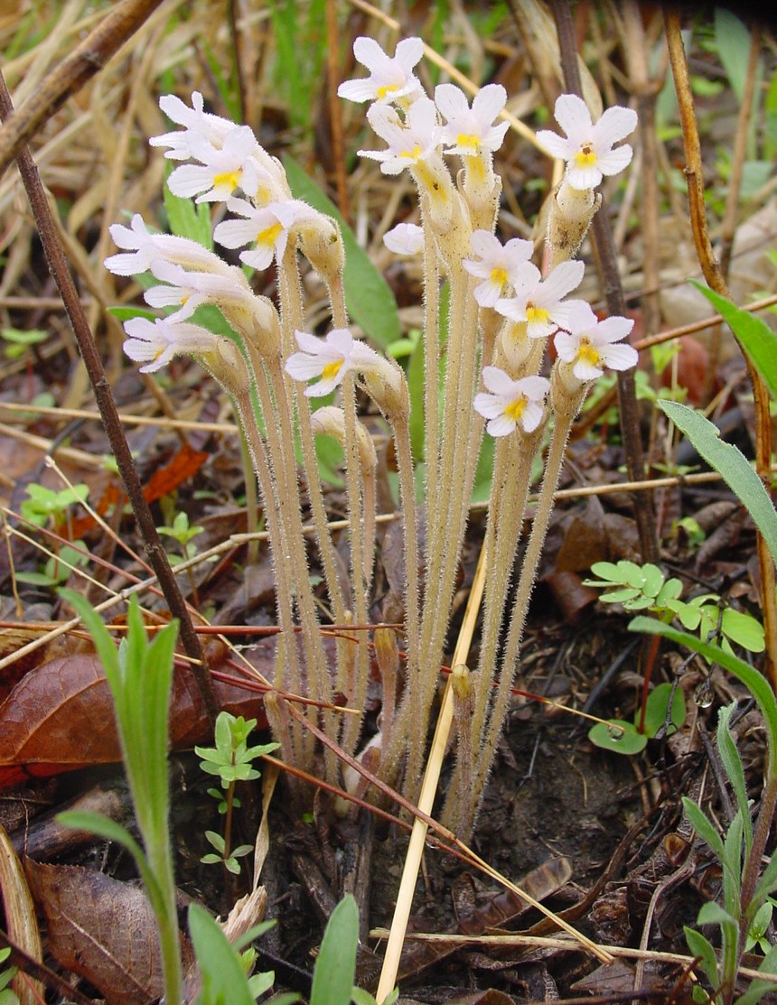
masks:
[[(8, 92), (2, 71), (0, 71), (0, 118), (4, 122), (7, 122), (12, 113), (13, 104), (11, 95)], [(83, 313), (83, 307), (75, 290), (62, 244), (59, 240), (56, 224), (51, 214), (48, 200), (46, 199), (43, 183), (40, 180), (35, 162), (25, 143), (19, 146), (17, 162), (48, 267), (62, 297), (67, 318), (78, 343), (78, 349), (89, 377), (89, 382), (94, 393), (94, 400), (100, 409), (106, 434), (111, 444), (111, 450), (116, 457), (119, 472), (138, 522), (149, 561), (159, 580), (159, 585), (165, 595), (171, 614), (173, 617), (178, 618), (180, 622), (181, 642), (184, 651), (192, 659), (194, 678), (202, 695), (208, 717), (215, 724), (219, 711), (218, 702), (213, 690), (213, 683), (210, 679), (202, 646), (194, 631), (186, 603), (178, 587), (173, 570), (170, 567), (167, 553), (160, 541), (151, 510), (143, 494), (143, 484), (119, 419), (119, 412), (111, 391), (111, 385), (106, 377), (103, 361), (100, 358), (94, 338), (86, 322), (86, 316)]]

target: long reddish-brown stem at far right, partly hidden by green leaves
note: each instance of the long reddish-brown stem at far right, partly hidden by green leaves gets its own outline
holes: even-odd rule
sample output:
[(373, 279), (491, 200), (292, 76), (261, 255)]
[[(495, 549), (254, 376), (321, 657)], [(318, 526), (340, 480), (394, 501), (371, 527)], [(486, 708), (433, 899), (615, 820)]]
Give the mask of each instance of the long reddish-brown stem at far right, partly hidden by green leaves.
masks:
[[(674, 77), (674, 89), (677, 93), (679, 119), (683, 126), (683, 143), (687, 162), (685, 172), (688, 179), (689, 207), (691, 210), (691, 224), (694, 230), (694, 244), (696, 246), (697, 257), (702, 266), (704, 277), (711, 288), (722, 296), (729, 296), (729, 287), (720, 263), (713, 253), (710, 234), (707, 229), (702, 148), (699, 142), (699, 131), (694, 111), (694, 95), (691, 89), (691, 78), (686, 61), (686, 49), (681, 33), (679, 14), (677, 11), (667, 8), (663, 12), (663, 19), (671, 72)], [(740, 349), (742, 349), (741, 346)], [(768, 487), (770, 484), (772, 455), (769, 393), (761, 379), (761, 375), (755, 369), (744, 350), (742, 351), (742, 355), (745, 357), (755, 400), (756, 470)], [(775, 601), (774, 592), (774, 562), (772, 561), (763, 535), (757, 533), (756, 541), (758, 547), (758, 565), (761, 573), (761, 610), (763, 611), (764, 629), (766, 632), (766, 670), (772, 688), (777, 691), (777, 602)]]

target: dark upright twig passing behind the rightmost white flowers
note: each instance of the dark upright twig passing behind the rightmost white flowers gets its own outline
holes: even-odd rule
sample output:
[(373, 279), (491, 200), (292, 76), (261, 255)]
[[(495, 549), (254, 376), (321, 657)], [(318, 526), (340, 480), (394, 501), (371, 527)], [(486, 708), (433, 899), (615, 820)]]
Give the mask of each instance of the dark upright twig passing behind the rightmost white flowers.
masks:
[[(564, 71), (564, 85), (569, 92), (582, 94), (580, 73), (577, 66), (577, 46), (575, 27), (569, 0), (551, 0), (550, 4), (556, 21), (561, 50), (561, 65)], [(612, 231), (607, 218), (606, 207), (602, 205), (591, 225), (596, 256), (599, 265), (607, 311), (611, 315), (625, 316), (626, 303), (618, 273), (617, 256), (612, 241)], [(644, 455), (639, 436), (639, 414), (636, 404), (633, 370), (618, 372), (618, 405), (620, 428), (626, 453), (626, 468), (631, 481), (644, 477)], [(657, 556), (655, 523), (652, 498), (640, 493), (635, 499), (634, 517), (639, 532), (639, 547), (644, 562), (654, 562)]]

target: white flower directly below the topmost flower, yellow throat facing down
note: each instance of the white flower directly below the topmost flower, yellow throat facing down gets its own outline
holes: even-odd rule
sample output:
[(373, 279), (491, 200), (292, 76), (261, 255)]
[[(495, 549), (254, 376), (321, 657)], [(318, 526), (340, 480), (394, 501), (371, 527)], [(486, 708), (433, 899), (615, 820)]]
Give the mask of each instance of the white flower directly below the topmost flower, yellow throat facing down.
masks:
[(394, 109), (387, 105), (371, 105), (367, 119), (388, 150), (360, 150), (360, 157), (380, 161), (385, 175), (398, 175), (405, 168), (412, 168), (428, 161), (440, 142), (437, 109), (429, 97), (419, 97), (402, 123)]

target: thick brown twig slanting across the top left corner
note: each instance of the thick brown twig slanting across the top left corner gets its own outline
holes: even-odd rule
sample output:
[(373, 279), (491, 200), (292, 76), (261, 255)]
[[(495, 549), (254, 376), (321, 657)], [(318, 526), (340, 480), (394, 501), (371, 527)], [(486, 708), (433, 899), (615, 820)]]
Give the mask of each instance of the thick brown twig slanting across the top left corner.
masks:
[(105, 66), (162, 0), (122, 0), (73, 52), (43, 80), (12, 114), (3, 115), (0, 130), (0, 176), (24, 144), (37, 133), (67, 98)]

